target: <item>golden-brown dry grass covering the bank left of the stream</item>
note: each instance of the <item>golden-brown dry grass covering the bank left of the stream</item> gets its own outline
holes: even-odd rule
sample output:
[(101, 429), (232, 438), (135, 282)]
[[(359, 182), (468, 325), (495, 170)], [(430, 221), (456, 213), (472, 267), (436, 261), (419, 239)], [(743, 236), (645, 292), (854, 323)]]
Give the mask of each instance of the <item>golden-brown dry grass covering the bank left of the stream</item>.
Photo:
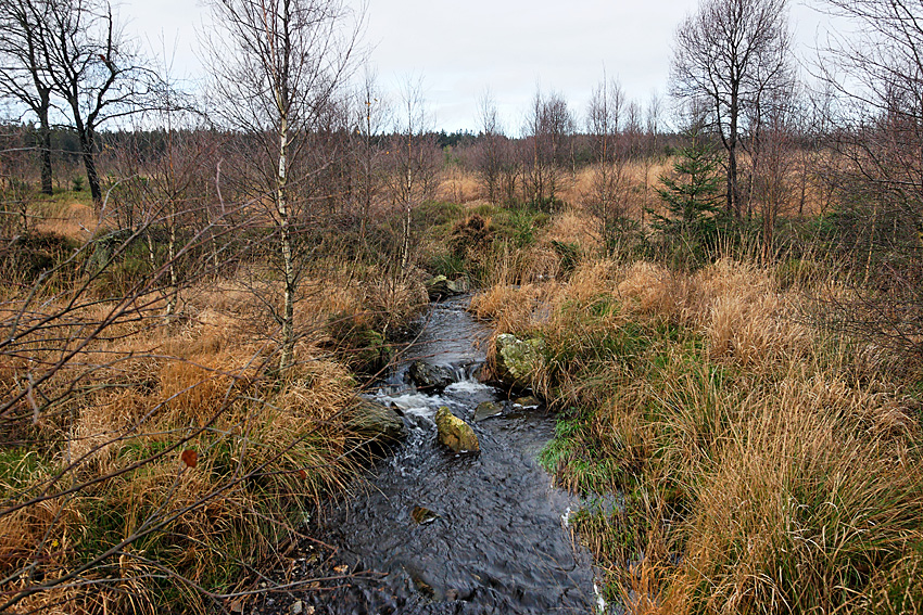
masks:
[[(419, 303), (418, 284), (379, 287), (346, 273), (307, 279), (295, 366), (280, 379), (267, 335), (275, 324), (253, 293), (258, 276), (240, 276), (184, 291), (173, 321), (161, 318), (163, 300), (151, 300), (41, 388), (53, 399), (76, 382), (79, 396), (65, 395), (66, 403), (50, 407), (61, 411), (41, 414), (35, 426), (23, 409), (17, 437), (36, 448), (0, 450), (0, 500), (28, 502), (45, 489), (52, 497), (0, 516), (0, 578), (9, 577), (0, 590), (39, 589), (17, 607), (153, 613), (177, 601), (187, 612), (205, 612), (200, 588), (222, 592), (244, 582), (248, 566), (296, 537), (307, 511), (354, 475), (357, 460), (347, 452), (355, 440), (344, 414), (357, 385), (324, 346), (325, 326), (343, 312), (399, 322)], [(16, 300), (0, 306), (2, 318), (15, 317)], [(59, 307), (47, 302), (41, 309)], [(90, 304), (68, 313), (74, 343), (111, 309)], [(52, 359), (60, 331), (17, 343), (34, 361)], [(3, 366), (5, 390), (24, 386), (28, 366)], [(193, 464), (184, 451), (195, 451)], [(53, 496), (68, 488), (76, 491)], [(123, 541), (59, 587), (68, 571)], [(30, 566), (31, 579), (23, 576)], [(168, 580), (159, 580), (164, 575)]]

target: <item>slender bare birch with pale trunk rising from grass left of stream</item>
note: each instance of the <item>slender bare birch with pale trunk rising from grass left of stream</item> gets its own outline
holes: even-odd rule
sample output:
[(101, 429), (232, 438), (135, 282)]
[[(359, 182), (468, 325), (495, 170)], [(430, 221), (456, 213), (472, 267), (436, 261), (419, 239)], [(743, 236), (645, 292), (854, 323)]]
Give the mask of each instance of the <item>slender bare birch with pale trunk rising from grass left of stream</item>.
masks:
[(356, 30), (344, 27), (349, 11), (340, 0), (214, 0), (212, 7), (220, 33), (208, 41), (218, 113), (253, 148), (241, 188), (254, 204), (271, 203), (278, 233), (283, 298), (275, 317), (285, 370), (295, 344), (294, 233), (308, 205), (292, 198), (293, 182), (304, 177), (291, 170), (308, 157), (308, 137), (343, 80)]

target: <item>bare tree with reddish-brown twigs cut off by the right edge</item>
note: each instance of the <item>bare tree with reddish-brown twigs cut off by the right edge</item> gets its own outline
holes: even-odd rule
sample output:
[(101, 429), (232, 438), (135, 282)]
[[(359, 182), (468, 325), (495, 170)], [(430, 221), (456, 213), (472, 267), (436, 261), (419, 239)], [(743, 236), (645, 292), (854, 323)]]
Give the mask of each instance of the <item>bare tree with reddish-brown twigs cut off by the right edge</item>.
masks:
[[(923, 9), (908, 0), (829, 0), (858, 36), (832, 35), (818, 68), (825, 104), (824, 168), (854, 300), (829, 299), (842, 328), (923, 357)], [(872, 292), (870, 293), (869, 290)]]

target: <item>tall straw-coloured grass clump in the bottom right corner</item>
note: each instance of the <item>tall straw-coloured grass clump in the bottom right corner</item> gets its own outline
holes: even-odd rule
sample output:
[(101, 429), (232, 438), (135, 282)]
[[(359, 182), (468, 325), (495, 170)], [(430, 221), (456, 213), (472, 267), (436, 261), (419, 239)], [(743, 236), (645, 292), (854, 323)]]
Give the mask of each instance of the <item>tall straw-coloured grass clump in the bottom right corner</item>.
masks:
[(862, 610), (883, 589), (869, 575), (921, 556), (919, 452), (868, 437), (854, 400), (831, 407), (815, 392), (786, 382), (748, 408), (696, 486), (674, 582), (706, 595), (707, 612)]

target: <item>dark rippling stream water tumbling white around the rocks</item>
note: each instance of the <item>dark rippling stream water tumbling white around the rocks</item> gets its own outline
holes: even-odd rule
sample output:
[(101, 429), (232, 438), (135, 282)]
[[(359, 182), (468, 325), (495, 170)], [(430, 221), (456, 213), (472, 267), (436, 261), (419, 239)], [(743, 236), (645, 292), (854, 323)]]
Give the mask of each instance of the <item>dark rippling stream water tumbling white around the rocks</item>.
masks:
[[(375, 395), (401, 411), (409, 435), (359, 494), (327, 515), (325, 540), (366, 580), (313, 599), (316, 613), (593, 610), (589, 555), (565, 527), (574, 503), (536, 461), (554, 418), (472, 379), (490, 331), (465, 307), (465, 299), (434, 305), (407, 353), (451, 367), (457, 382), (439, 394), (418, 392), (405, 363)], [(496, 401), (503, 414), (475, 423), (482, 401)], [(440, 406), (473, 426), (480, 454), (455, 456), (437, 443)]]

